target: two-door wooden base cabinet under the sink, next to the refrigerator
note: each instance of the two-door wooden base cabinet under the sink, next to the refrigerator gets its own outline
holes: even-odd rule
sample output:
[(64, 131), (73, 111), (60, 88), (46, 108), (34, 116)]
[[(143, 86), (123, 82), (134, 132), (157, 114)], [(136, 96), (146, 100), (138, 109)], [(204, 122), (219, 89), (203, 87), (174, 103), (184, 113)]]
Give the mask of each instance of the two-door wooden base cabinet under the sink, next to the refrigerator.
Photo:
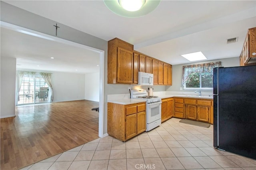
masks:
[(184, 99), (185, 118), (213, 123), (213, 101), (209, 99)]

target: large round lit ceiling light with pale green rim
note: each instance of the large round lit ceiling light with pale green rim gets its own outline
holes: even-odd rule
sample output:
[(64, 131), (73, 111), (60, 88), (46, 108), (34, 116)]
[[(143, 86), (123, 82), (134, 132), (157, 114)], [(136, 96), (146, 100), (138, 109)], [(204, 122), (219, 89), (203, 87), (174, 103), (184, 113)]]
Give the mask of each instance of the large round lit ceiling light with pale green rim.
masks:
[(137, 18), (152, 12), (160, 0), (104, 0), (104, 3), (119, 16)]

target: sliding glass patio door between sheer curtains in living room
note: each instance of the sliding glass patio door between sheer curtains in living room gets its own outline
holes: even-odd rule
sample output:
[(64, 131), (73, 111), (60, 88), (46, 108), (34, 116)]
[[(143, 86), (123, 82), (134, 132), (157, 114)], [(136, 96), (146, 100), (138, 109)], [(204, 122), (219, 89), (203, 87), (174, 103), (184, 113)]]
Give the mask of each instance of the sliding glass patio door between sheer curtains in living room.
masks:
[(48, 92), (49, 87), (42, 77), (24, 76), (19, 91), (18, 105), (46, 103)]

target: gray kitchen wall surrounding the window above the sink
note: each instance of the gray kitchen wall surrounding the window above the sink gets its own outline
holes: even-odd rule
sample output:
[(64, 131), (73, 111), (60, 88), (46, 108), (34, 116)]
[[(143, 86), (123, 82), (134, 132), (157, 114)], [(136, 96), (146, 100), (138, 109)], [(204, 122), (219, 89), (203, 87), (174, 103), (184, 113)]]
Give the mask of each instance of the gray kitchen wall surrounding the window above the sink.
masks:
[[(235, 67), (240, 65), (239, 57), (225, 58), (225, 59), (216, 59), (210, 61), (200, 61), (195, 63), (186, 63), (186, 64), (178, 64), (172, 65), (172, 86), (166, 87), (166, 91), (194, 91), (194, 90), (180, 90), (182, 87), (182, 67), (184, 65), (192, 65), (192, 64), (201, 64), (201, 63), (210, 63), (221, 61), (222, 67)], [(202, 90), (204, 92), (212, 92), (212, 90)]]

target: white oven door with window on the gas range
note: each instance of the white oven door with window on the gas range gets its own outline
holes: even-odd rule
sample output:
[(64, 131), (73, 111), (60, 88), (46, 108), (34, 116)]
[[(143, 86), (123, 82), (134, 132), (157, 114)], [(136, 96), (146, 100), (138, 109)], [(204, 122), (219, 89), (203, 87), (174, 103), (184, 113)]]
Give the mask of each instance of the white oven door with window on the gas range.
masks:
[(161, 103), (162, 101), (147, 104), (147, 123), (161, 119)]

